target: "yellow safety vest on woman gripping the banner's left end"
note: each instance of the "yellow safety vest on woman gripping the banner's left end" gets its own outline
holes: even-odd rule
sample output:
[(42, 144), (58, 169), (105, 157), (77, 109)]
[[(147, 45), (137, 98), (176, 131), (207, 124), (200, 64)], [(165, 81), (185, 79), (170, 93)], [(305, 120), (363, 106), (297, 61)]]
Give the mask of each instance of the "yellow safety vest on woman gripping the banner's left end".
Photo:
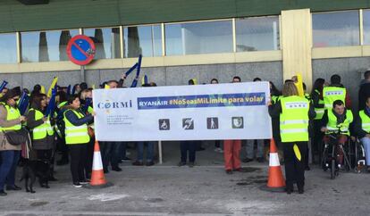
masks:
[[(82, 119), (84, 117), (83, 114), (81, 114), (80, 112), (77, 112), (75, 110), (70, 111), (74, 112), (79, 117), (79, 119)], [(88, 143), (90, 141), (90, 137), (88, 136), (88, 125), (73, 125), (71, 121), (65, 117), (66, 112), (64, 112), (63, 119), (65, 123), (65, 143), (67, 145)]]

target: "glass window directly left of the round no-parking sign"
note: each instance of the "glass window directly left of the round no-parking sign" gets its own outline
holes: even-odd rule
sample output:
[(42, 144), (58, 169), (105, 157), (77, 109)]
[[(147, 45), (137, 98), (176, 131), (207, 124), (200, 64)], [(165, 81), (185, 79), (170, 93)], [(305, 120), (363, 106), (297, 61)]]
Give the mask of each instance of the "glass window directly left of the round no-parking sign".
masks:
[(21, 32), (21, 62), (68, 61), (68, 41), (78, 29)]

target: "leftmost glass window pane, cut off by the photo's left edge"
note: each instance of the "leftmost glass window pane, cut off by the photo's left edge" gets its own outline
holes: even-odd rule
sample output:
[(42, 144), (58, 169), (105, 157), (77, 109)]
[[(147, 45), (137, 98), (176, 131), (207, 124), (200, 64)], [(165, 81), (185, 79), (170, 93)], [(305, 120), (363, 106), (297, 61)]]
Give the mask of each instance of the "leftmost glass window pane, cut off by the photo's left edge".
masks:
[(17, 62), (17, 37), (15, 33), (0, 34), (0, 63)]

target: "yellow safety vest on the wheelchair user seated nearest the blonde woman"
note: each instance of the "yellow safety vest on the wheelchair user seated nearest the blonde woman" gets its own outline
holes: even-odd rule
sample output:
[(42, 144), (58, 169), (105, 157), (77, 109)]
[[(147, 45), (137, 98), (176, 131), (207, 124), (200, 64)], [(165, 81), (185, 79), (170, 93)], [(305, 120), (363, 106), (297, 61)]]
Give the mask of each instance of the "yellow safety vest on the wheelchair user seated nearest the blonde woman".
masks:
[(337, 124), (337, 117), (334, 115), (334, 111), (328, 110), (328, 124), (326, 125), (326, 129), (329, 129), (329, 131), (327, 131), (326, 134), (338, 133), (339, 129), (341, 128), (342, 134), (349, 135), (349, 124), (352, 121), (353, 114), (350, 110), (347, 110), (346, 120), (344, 120), (341, 124)]

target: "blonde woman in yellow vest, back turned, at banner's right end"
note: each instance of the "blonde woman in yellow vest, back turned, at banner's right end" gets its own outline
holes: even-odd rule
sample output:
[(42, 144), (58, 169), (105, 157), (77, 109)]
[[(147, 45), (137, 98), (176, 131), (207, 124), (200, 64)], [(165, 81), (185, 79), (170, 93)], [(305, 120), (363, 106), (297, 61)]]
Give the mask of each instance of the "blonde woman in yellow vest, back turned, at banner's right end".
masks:
[(305, 160), (308, 142), (308, 121), (315, 118), (315, 110), (309, 101), (299, 96), (293, 82), (286, 82), (282, 88), (282, 98), (272, 105), (269, 103), (272, 118), (280, 116), (280, 136), (284, 152), (286, 192), (291, 194), (296, 182), (299, 194), (304, 193)]

